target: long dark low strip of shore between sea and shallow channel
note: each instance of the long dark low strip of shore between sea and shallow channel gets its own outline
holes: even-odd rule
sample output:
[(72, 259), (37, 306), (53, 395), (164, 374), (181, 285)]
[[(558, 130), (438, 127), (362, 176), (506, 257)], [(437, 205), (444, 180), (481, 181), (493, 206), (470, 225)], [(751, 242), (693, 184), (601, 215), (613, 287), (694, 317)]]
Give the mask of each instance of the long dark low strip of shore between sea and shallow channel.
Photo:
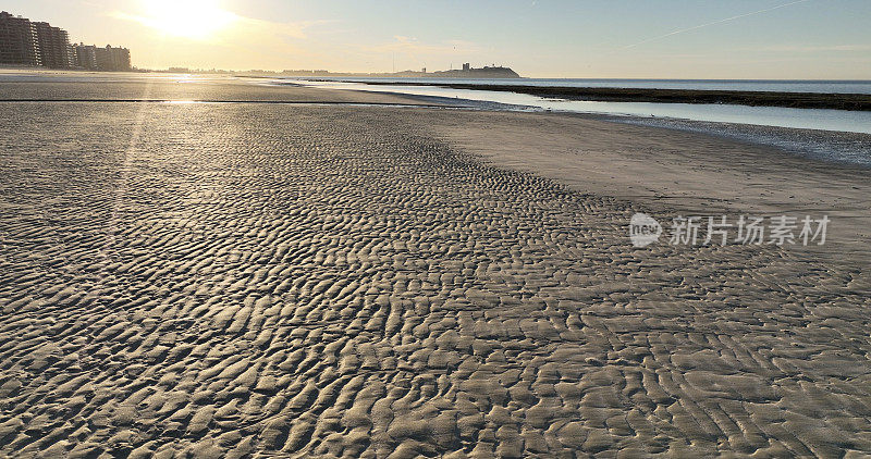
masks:
[[(314, 78), (312, 78), (314, 79)], [(396, 82), (354, 82), (366, 85), (396, 85)], [(440, 86), (453, 89), (528, 94), (549, 99), (599, 102), (713, 103), (794, 109), (871, 111), (871, 95), (707, 89), (578, 88), (567, 86), (484, 85), (469, 83), (402, 82), (405, 86)]]

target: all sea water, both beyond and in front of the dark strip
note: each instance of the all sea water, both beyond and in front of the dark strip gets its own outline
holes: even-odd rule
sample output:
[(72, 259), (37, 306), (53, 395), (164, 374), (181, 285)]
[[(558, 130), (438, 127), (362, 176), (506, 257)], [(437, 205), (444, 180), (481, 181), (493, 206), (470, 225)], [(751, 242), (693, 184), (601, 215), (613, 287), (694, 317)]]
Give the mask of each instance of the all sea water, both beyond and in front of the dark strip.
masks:
[[(367, 83), (379, 83), (369, 85)], [(713, 134), (775, 146), (808, 158), (871, 169), (871, 112), (712, 103), (600, 102), (542, 98), (488, 90), (488, 85), (600, 88), (712, 89), (736, 91), (868, 94), (871, 80), (585, 79), (585, 78), (279, 78), (332, 89), (394, 92), (488, 110), (552, 111), (599, 115), (611, 121)], [(407, 83), (475, 84), (481, 89)]]

